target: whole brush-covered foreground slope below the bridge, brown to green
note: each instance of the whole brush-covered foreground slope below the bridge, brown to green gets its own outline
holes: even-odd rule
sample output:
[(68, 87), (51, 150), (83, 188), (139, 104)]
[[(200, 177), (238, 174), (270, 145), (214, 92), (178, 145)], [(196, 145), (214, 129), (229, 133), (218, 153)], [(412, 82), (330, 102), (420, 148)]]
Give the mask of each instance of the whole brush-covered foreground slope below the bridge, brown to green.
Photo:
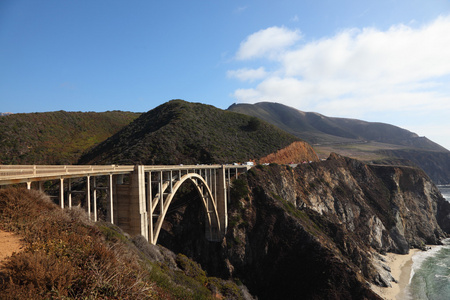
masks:
[(23, 238), (0, 270), (0, 299), (242, 299), (231, 281), (207, 277), (184, 255), (130, 239), (119, 228), (62, 210), (47, 196), (0, 190), (0, 230)]

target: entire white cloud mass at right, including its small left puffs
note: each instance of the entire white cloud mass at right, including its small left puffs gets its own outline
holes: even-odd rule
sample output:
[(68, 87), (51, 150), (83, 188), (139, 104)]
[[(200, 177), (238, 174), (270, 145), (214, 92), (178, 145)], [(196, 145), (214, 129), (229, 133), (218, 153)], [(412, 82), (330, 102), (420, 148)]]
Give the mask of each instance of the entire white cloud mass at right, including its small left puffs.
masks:
[(238, 59), (266, 58), (274, 71), (253, 88), (237, 90), (237, 100), (278, 101), (321, 112), (332, 107), (335, 115), (449, 108), (450, 85), (443, 76), (450, 78), (450, 17), (420, 28), (348, 29), (308, 43), (300, 39), (298, 30), (270, 27), (242, 42)]

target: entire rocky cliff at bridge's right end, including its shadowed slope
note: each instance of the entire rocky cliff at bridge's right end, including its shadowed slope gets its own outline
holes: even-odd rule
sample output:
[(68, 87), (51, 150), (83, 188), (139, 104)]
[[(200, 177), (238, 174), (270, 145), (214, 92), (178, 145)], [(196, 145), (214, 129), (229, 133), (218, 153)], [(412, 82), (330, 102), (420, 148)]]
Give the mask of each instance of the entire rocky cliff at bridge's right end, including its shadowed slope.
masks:
[(173, 218), (182, 239), (169, 230), (160, 242), (210, 274), (239, 278), (259, 299), (378, 299), (368, 283), (393, 280), (378, 253), (438, 244), (450, 228), (450, 204), (420, 169), (336, 154), (296, 168), (259, 165), (235, 180), (221, 244), (195, 237), (201, 207), (193, 211)]

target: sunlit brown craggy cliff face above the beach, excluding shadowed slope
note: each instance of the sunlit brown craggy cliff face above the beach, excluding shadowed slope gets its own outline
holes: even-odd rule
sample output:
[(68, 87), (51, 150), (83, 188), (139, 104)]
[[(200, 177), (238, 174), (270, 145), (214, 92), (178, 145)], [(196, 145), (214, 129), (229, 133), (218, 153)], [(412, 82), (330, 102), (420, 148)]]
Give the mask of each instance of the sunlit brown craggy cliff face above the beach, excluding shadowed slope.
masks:
[(274, 191), (367, 240), (377, 251), (407, 253), (444, 236), (437, 205), (445, 201), (421, 170), (369, 166), (332, 154), (326, 162), (301, 165)]

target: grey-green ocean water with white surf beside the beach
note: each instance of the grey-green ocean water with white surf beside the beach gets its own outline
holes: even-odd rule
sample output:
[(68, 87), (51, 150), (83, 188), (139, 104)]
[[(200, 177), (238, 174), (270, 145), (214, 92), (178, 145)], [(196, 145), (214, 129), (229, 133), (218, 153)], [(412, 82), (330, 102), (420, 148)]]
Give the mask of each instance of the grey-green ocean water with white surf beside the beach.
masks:
[[(450, 185), (441, 185), (438, 188), (444, 198), (450, 202)], [(450, 299), (450, 239), (444, 240), (443, 244), (413, 256), (406, 299)]]

